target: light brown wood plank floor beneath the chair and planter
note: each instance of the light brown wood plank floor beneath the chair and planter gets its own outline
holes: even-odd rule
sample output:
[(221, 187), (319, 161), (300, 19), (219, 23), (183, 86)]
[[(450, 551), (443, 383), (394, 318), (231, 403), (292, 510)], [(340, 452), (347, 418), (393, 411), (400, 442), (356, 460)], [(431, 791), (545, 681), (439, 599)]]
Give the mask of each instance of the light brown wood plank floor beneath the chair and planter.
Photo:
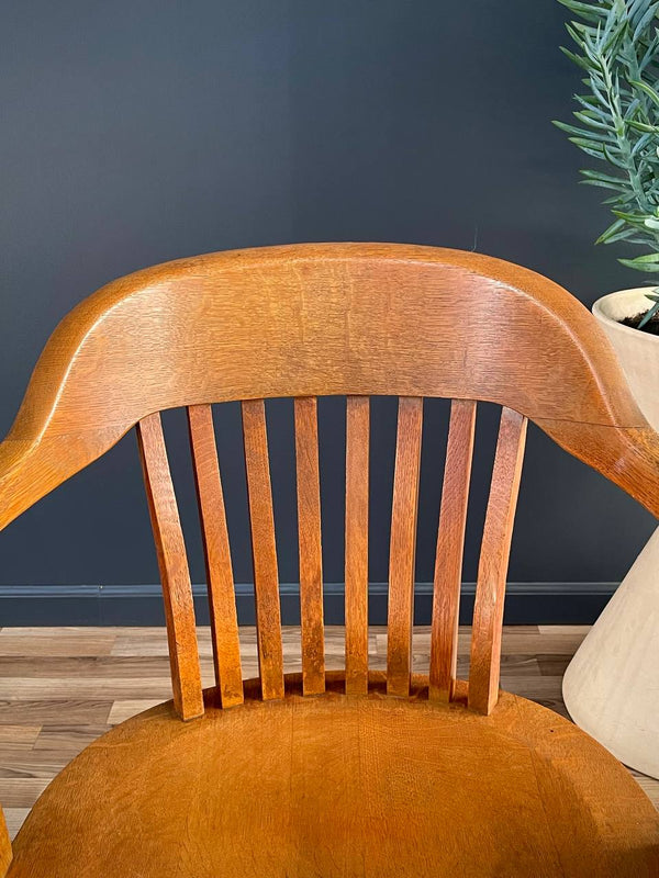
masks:
[[(257, 675), (253, 628), (241, 630), (243, 671)], [(502, 686), (567, 716), (562, 674), (585, 627), (504, 629)], [(300, 671), (300, 630), (284, 629), (286, 671)], [(384, 668), (384, 629), (369, 638), (372, 668)], [(427, 672), (429, 629), (414, 631), (414, 671)], [(467, 675), (469, 629), (460, 632), (458, 672)], [(344, 633), (328, 628), (328, 669), (343, 666)], [(213, 684), (210, 633), (200, 629), (204, 685)], [(54, 775), (91, 741), (171, 697), (161, 628), (4, 628), (0, 630), (0, 803), (15, 834)], [(659, 781), (633, 773), (659, 808)]]

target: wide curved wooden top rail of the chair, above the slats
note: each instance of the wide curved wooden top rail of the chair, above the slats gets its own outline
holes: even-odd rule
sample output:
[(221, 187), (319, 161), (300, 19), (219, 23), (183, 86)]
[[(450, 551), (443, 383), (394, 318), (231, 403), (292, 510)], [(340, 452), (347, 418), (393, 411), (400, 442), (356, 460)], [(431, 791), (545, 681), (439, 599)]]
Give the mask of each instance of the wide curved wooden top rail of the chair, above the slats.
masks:
[(306, 244), (156, 266), (74, 308), (0, 444), (0, 528), (153, 412), (332, 394), (506, 405), (659, 515), (659, 438), (562, 288), (460, 250)]

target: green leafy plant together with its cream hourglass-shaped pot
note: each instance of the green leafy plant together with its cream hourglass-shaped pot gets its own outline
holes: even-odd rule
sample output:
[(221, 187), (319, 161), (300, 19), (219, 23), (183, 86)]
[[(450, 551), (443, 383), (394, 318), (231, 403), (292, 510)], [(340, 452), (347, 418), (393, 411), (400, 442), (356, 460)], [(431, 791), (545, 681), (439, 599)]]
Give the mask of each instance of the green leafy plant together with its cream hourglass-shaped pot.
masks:
[[(641, 288), (593, 305), (646, 418), (659, 430), (659, 0), (559, 0), (583, 74), (577, 124), (556, 122), (593, 159), (582, 182), (605, 192), (597, 244), (641, 247), (621, 258)], [(659, 777), (659, 529), (583, 641), (563, 678), (574, 721), (622, 762)]]

